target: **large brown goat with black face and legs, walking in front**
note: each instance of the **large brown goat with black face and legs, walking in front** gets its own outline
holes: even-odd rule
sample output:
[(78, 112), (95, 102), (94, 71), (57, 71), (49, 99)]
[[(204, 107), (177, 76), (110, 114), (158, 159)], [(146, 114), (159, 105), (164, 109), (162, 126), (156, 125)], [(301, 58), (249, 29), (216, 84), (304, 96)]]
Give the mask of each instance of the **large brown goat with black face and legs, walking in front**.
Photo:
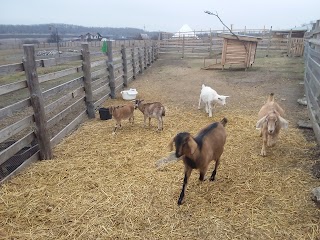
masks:
[(182, 204), (192, 169), (199, 169), (199, 180), (204, 181), (209, 163), (212, 160), (215, 161), (215, 167), (210, 177), (210, 181), (214, 181), (220, 163), (220, 157), (226, 143), (227, 134), (224, 128), (226, 123), (227, 119), (223, 118), (221, 122), (214, 122), (203, 128), (195, 137), (191, 136), (188, 132), (181, 132), (171, 141), (169, 145), (171, 150), (174, 143), (176, 157), (180, 158), (182, 156), (184, 163), (184, 180), (178, 205)]

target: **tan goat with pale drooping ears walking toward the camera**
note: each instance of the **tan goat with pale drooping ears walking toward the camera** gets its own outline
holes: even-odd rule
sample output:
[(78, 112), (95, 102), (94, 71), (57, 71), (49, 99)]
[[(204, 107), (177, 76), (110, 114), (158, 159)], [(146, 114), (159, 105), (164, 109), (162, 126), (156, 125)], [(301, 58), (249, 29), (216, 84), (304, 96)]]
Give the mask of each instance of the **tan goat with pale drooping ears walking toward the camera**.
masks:
[(260, 137), (262, 136), (261, 156), (267, 155), (267, 146), (273, 147), (278, 139), (281, 128), (288, 128), (288, 121), (283, 118), (284, 110), (274, 100), (274, 94), (271, 93), (267, 102), (261, 107), (258, 113), (258, 122), (256, 128), (260, 128)]

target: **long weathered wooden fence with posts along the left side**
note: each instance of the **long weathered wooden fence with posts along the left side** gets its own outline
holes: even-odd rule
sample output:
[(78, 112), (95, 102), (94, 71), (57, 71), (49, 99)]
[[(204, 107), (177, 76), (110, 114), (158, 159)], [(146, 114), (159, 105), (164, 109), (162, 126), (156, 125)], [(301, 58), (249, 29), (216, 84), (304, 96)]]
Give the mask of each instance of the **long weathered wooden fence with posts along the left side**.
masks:
[[(0, 77), (24, 73), (26, 78), (0, 85), (0, 183), (31, 162), (52, 159), (55, 145), (95, 118), (103, 102), (115, 98), (158, 57), (152, 41), (121, 49), (114, 49), (113, 41), (107, 45), (106, 54), (90, 53), (83, 43), (79, 55), (41, 60), (35, 59), (34, 45), (24, 45), (23, 62), (0, 66)], [(10, 97), (13, 102), (4, 101)]]

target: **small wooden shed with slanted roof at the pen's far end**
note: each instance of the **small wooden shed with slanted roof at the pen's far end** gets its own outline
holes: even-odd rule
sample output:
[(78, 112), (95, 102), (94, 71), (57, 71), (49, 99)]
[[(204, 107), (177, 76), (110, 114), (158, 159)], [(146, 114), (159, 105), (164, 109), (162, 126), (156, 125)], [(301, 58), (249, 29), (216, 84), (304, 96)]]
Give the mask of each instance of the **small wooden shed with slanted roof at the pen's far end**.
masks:
[(223, 38), (221, 65), (237, 65), (247, 69), (256, 56), (259, 37), (247, 35), (220, 34)]

